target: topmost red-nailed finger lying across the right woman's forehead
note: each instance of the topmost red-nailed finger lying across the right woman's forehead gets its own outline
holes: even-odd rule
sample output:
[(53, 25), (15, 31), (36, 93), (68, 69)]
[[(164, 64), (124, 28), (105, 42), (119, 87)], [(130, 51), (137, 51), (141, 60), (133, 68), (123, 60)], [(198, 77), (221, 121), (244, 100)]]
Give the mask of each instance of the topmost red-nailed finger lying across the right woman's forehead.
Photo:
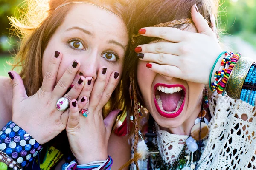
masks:
[(171, 27), (145, 27), (140, 29), (139, 33), (146, 37), (156, 37), (171, 42), (181, 42), (187, 34), (190, 34), (190, 32)]

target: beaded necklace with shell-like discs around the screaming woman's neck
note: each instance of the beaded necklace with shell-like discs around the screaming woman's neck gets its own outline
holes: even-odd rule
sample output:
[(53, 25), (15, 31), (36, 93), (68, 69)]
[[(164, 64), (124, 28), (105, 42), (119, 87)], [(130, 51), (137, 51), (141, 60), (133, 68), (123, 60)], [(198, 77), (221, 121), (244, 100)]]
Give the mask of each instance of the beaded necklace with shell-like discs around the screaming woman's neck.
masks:
[[(148, 156), (147, 170), (193, 170), (197, 168), (198, 161), (201, 156), (201, 147), (204, 147), (204, 144), (202, 144), (202, 140), (205, 139), (209, 132), (209, 128), (207, 126), (208, 121), (206, 118), (204, 118), (204, 116), (206, 116), (207, 113), (206, 109), (209, 108), (207, 88), (204, 88), (202, 108), (203, 109), (199, 113), (198, 118), (195, 120), (195, 125), (192, 127), (191, 136), (189, 136), (186, 139), (186, 143), (184, 144), (179, 156), (171, 164), (166, 163), (166, 161), (164, 161), (160, 155), (157, 142), (156, 128), (154, 125), (154, 118), (151, 116), (151, 114), (149, 114), (148, 133), (145, 134), (148, 140), (147, 146), (150, 153)], [(154, 143), (152, 142), (153, 138)], [(191, 157), (189, 156), (189, 152), (187, 150), (190, 150), (192, 152)], [(193, 160), (196, 161), (196, 164), (193, 164)], [(189, 161), (191, 162), (190, 167), (188, 166)]]

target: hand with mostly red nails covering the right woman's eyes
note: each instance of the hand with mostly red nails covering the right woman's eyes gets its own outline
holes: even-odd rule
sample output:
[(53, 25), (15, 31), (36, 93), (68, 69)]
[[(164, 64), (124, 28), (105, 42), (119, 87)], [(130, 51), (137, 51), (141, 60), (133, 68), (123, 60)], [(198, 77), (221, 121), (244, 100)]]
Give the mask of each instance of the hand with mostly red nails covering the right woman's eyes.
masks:
[[(138, 57), (149, 62), (147, 67), (166, 79), (176, 77), (186, 81), (208, 84), (212, 66), (221, 54), (215, 34), (215, 19), (211, 15), (212, 29), (192, 6), (192, 20), (198, 33), (182, 31), (169, 27), (147, 27), (143, 36), (157, 37), (168, 42), (157, 42), (139, 45), (141, 52)], [(138, 51), (137, 51), (138, 52)], [(221, 58), (222, 59), (222, 58)]]

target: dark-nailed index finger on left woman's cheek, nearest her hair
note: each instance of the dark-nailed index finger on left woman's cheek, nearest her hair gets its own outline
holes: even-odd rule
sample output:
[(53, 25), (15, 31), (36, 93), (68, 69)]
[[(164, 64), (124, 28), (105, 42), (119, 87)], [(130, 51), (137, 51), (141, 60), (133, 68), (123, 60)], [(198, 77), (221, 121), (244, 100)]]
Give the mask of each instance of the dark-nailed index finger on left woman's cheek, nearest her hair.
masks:
[(62, 54), (58, 51), (55, 51), (54, 56), (51, 57), (49, 65), (47, 67), (47, 71), (44, 75), (43, 83), (42, 83), (42, 91), (50, 92), (54, 89), (58, 68), (61, 63)]

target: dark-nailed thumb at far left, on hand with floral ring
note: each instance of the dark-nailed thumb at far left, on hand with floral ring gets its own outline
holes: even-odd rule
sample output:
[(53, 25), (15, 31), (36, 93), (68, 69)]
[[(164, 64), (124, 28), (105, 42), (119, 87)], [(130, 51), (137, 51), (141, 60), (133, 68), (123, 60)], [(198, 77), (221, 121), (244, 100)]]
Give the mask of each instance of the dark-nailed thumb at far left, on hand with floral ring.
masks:
[(28, 97), (23, 84), (23, 80), (21, 79), (20, 75), (17, 74), (15, 71), (9, 71), (8, 75), (12, 79), (12, 101), (23, 101)]

